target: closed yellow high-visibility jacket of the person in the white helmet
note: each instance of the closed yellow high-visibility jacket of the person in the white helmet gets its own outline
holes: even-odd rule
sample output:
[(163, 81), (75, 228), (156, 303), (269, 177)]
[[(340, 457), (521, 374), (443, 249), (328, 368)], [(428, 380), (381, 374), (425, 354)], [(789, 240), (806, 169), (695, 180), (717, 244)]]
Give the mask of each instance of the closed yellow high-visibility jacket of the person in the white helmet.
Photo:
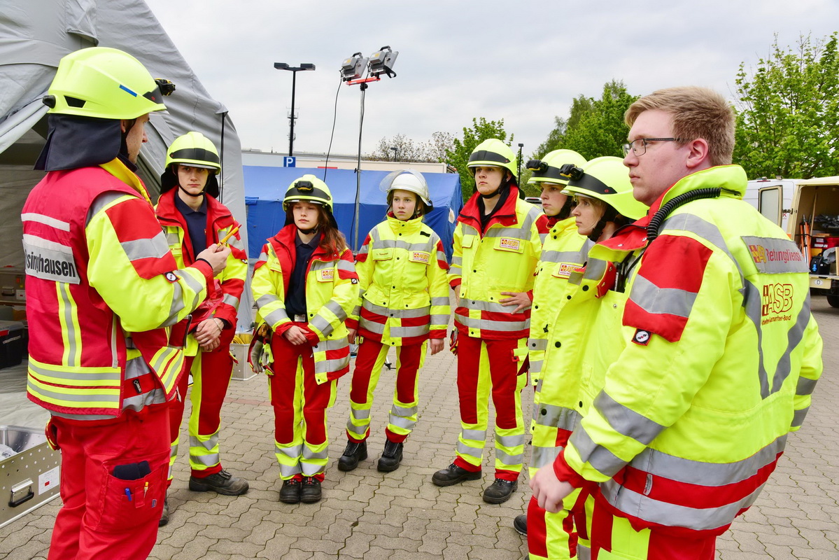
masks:
[(422, 217), (403, 222), (388, 215), (356, 255), (360, 301), (347, 327), (390, 346), (445, 338), (448, 270), (440, 236)]

